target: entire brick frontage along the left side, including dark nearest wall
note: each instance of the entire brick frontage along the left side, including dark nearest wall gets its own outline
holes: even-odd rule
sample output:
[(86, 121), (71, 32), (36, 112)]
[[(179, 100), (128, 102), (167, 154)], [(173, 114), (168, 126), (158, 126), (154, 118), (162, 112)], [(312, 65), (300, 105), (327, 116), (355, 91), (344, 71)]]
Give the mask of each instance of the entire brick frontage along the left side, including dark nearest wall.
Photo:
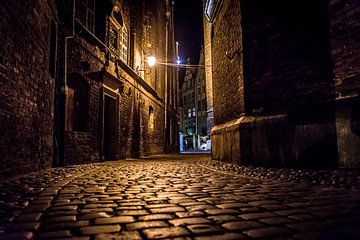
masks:
[(147, 63), (175, 60), (171, 1), (17, 2), (0, 4), (0, 172), (178, 149), (177, 71)]

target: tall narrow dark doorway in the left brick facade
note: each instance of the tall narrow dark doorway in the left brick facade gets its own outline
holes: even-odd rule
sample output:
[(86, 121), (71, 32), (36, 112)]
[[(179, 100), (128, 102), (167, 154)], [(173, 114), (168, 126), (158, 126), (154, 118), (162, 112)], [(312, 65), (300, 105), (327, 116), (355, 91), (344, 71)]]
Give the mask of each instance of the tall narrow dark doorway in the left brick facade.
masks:
[(114, 160), (117, 157), (117, 98), (104, 95), (104, 146), (103, 155), (105, 160)]

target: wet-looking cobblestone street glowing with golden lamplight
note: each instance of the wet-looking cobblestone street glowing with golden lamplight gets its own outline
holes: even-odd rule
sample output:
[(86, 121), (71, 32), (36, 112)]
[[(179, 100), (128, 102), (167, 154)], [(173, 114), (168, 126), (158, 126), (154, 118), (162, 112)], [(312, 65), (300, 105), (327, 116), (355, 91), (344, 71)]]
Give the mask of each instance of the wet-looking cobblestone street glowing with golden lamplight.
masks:
[(49, 169), (0, 181), (0, 239), (360, 239), (358, 173), (208, 155)]

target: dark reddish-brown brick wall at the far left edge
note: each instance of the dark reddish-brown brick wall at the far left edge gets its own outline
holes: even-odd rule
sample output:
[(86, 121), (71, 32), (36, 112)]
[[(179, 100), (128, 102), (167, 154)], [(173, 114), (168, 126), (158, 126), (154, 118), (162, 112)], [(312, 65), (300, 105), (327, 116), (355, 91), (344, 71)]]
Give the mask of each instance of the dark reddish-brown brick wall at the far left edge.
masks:
[(0, 174), (52, 164), (54, 79), (49, 74), (49, 49), (53, 16), (48, 3), (0, 3)]

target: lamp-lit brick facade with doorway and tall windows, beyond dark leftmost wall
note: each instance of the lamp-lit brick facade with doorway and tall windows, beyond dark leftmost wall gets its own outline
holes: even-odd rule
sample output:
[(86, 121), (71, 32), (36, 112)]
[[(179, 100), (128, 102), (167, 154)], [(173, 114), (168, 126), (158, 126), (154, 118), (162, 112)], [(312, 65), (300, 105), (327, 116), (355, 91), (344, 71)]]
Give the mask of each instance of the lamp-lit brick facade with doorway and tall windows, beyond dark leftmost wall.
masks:
[[(178, 149), (177, 73), (148, 62), (154, 60), (150, 56), (159, 62), (175, 61), (172, 3), (91, 2), (76, 2), (75, 36), (68, 40), (64, 162)], [(81, 68), (84, 65), (88, 68)], [(88, 101), (83, 100), (88, 116), (75, 110), (81, 101), (76, 102), (72, 82), (80, 78), (88, 84)], [(88, 128), (74, 129), (74, 123), (86, 117), (80, 125)]]

